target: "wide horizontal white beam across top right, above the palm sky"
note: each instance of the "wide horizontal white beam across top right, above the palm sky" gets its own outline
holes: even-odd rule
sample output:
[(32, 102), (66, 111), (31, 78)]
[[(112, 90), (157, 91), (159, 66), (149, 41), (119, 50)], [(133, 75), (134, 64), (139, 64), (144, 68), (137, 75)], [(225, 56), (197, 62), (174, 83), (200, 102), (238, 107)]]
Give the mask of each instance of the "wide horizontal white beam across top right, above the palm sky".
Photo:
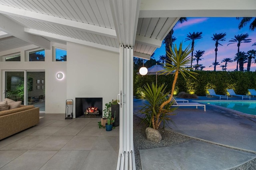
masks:
[(255, 14), (255, 0), (141, 0), (139, 18), (255, 17)]

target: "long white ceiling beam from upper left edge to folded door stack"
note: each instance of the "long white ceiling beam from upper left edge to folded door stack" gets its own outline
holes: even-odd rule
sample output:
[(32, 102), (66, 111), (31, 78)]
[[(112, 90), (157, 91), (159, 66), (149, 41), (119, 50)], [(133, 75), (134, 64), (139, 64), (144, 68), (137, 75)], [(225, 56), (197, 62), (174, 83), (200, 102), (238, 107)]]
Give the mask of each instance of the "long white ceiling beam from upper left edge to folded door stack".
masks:
[(37, 20), (40, 22), (60, 24), (62, 26), (72, 27), (76, 30), (81, 30), (81, 31), (92, 33), (92, 34), (107, 36), (110, 38), (116, 38), (116, 31), (110, 28), (104, 28), (104, 27), (95, 26), (92, 24), (86, 24), (82, 22), (67, 20), (65, 18), (59, 18), (59, 17), (50, 16), (46, 14), (40, 14), (37, 12), (31, 12), (28, 10), (13, 8), (10, 6), (0, 5), (0, 13), (27, 18), (30, 20)]

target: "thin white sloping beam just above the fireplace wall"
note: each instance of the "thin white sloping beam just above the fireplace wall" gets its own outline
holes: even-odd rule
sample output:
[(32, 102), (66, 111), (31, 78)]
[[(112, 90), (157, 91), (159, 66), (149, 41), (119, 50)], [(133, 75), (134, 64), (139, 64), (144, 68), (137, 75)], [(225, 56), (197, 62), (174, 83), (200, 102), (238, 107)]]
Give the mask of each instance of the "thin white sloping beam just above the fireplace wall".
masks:
[(52, 33), (49, 33), (49, 32), (34, 30), (34, 29), (31, 29), (31, 28), (24, 28), (24, 31), (26, 33), (29, 33), (29, 34), (34, 34), (34, 35), (48, 37), (48, 38), (55, 38), (55, 39), (63, 40), (63, 41), (67, 41), (67, 42), (79, 43), (79, 44), (87, 45), (87, 46), (90, 46), (90, 47), (100, 48), (100, 49), (104, 49), (106, 51), (112, 51), (112, 52), (119, 53), (119, 48), (109, 47), (109, 46), (98, 44), (98, 43), (92, 43), (92, 42), (87, 42), (87, 41), (84, 41), (84, 40), (78, 40), (78, 39), (75, 39), (75, 38), (70, 38), (70, 37), (61, 36), (61, 35), (58, 35), (58, 34), (52, 34)]

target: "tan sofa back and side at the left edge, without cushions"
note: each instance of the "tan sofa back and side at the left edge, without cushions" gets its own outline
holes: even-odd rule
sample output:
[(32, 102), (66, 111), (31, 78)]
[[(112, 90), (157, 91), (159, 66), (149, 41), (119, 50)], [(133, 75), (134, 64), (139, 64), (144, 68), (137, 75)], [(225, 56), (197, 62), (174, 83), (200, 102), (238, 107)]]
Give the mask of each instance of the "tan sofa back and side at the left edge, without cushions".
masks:
[(33, 105), (0, 111), (0, 140), (37, 124), (39, 108)]

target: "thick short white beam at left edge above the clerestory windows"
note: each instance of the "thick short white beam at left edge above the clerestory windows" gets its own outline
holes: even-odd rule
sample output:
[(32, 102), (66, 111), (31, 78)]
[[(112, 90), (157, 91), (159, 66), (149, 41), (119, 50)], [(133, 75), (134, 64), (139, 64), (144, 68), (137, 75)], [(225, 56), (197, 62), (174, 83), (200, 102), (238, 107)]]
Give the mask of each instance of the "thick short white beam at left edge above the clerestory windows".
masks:
[(28, 43), (37, 45), (38, 47), (42, 47), (44, 49), (50, 49), (50, 41), (40, 36), (31, 35), (24, 32), (23, 26), (17, 24), (16, 22), (13, 22), (9, 18), (6, 18), (2, 14), (0, 14), (0, 30), (16, 38), (24, 40)]

